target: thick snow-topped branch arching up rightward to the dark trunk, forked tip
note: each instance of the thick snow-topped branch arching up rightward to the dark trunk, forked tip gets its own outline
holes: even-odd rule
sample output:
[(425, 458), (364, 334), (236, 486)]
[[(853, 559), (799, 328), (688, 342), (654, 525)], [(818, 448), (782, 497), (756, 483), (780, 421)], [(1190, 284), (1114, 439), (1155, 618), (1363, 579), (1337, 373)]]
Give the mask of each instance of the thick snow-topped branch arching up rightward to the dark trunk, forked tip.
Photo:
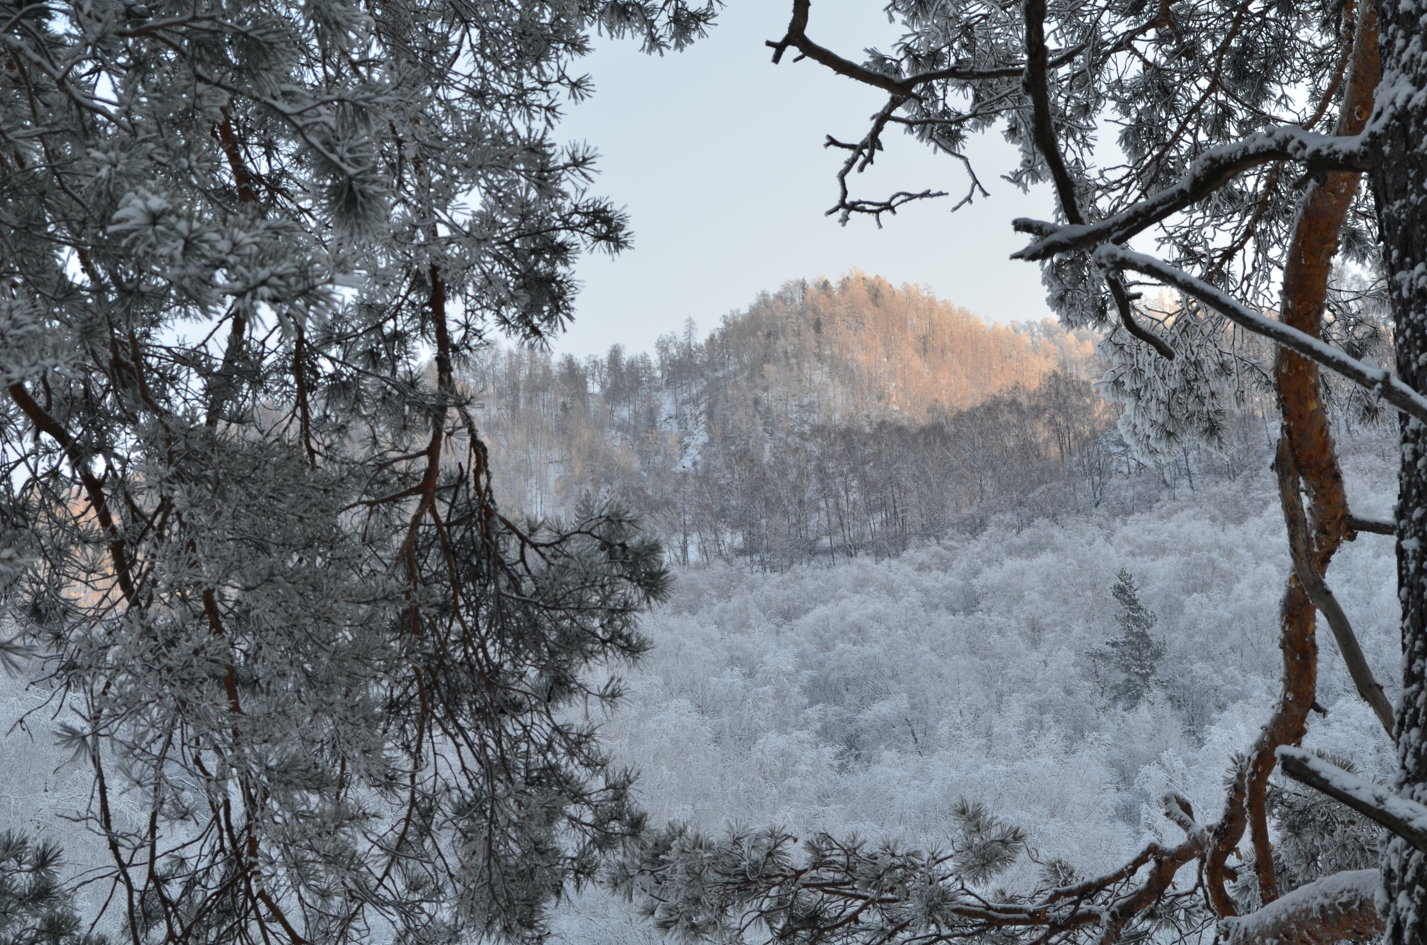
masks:
[(1099, 223), (1056, 226), (1020, 217), (1010, 226), (1017, 233), (1040, 238), (1012, 253), (1013, 260), (1046, 260), (1072, 250), (1086, 250), (1100, 243), (1124, 243), (1136, 233), (1214, 193), (1243, 171), (1270, 161), (1299, 161), (1321, 170), (1366, 170), (1363, 136), (1333, 137), (1280, 126), (1241, 141), (1217, 147), (1189, 167), (1179, 183), (1146, 197)]

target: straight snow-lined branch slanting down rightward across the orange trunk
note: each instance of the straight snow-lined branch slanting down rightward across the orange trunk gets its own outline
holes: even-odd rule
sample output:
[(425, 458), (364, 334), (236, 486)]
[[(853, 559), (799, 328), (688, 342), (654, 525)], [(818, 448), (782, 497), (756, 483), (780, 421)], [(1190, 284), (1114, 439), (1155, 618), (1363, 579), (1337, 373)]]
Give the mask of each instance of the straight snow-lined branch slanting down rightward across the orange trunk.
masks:
[(1384, 368), (1349, 357), (1339, 348), (1320, 338), (1291, 328), (1281, 321), (1274, 321), (1249, 308), (1229, 293), (1194, 278), (1184, 270), (1176, 268), (1163, 260), (1143, 253), (1132, 253), (1117, 246), (1104, 244), (1095, 251), (1095, 261), (1106, 271), (1119, 273), (1133, 270), (1146, 276), (1153, 276), (1167, 285), (1173, 285), (1186, 295), (1193, 295), (1210, 308), (1219, 311), (1240, 327), (1260, 334), (1296, 354), (1317, 361), (1323, 367), (1337, 371), (1347, 380), (1366, 387), (1397, 410), (1427, 423), (1427, 397), (1403, 384)]

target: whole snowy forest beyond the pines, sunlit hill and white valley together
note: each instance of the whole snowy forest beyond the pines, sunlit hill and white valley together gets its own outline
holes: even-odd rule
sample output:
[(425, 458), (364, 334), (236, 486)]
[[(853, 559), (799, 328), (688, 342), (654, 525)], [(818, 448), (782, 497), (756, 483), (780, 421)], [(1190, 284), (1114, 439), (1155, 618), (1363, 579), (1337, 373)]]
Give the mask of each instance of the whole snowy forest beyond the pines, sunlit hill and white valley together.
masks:
[[(1291, 564), (1269, 471), (1276, 408), (1259, 391), (1217, 448), (1137, 455), (1095, 388), (1093, 341), (850, 274), (783, 285), (702, 340), (691, 320), (652, 357), (494, 345), (468, 361), (502, 510), (615, 501), (675, 565), (642, 621), (652, 648), (619, 674), (628, 692), (601, 727), (652, 822), (918, 849), (980, 811), (1025, 832), (1033, 858), (999, 881), (1033, 888), (1046, 862), (1089, 875), (1170, 842), (1166, 791), (1213, 807), (1277, 685)], [(1383, 518), (1391, 428), (1351, 407), (1334, 414), (1349, 492)], [(1388, 679), (1390, 562), (1371, 534), (1337, 562)], [(26, 715), (49, 702), (24, 682), (3, 684), (21, 721), (9, 822), (61, 842), (76, 875), (100, 869), (103, 845), (66, 821), (90, 778)], [(1316, 707), (1307, 744), (1387, 781), (1391, 742), (1331, 644)], [(1281, 777), (1271, 791), (1287, 882), (1376, 862), (1370, 821)], [(1251, 902), (1251, 882), (1236, 895)], [(1174, 935), (1210, 929), (1177, 921)], [(659, 938), (598, 885), (548, 934)]]

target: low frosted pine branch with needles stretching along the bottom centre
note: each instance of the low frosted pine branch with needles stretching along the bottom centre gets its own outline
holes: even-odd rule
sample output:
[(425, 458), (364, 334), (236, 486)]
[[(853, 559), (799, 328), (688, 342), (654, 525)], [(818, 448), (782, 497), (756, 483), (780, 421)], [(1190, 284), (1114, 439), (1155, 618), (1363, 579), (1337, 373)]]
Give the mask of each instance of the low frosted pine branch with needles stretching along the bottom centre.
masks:
[[(939, 851), (816, 834), (799, 845), (783, 831), (712, 839), (671, 825), (624, 856), (609, 884), (685, 942), (933, 945), (992, 934), (1036, 932), (1042, 942), (1113, 942), (1146, 918), (1179, 915), (1202, 926), (1199, 892), (1176, 888), (1202, 856), (1207, 831), (1174, 848), (1152, 844), (1110, 874), (1076, 881), (1060, 864), (1050, 882), (1015, 896), (986, 888), (1017, 861), (1025, 835), (980, 805), (958, 805), (958, 832)], [(1070, 879), (1070, 882), (1066, 882)]]

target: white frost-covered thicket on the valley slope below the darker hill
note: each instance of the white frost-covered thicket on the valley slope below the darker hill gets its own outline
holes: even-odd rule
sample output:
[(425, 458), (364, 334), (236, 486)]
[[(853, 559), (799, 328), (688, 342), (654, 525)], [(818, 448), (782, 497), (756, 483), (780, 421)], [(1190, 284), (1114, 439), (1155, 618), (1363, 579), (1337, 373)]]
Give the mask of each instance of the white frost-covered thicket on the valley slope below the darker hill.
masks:
[[(1386, 515), (1387, 431), (1346, 444), (1354, 507)], [(1393, 541), (1361, 535), (1333, 562), (1333, 588), (1368, 662), (1396, 698)], [(645, 624), (655, 648), (626, 674), (605, 728), (641, 771), (655, 822), (705, 834), (778, 825), (948, 842), (965, 798), (1023, 827), (1040, 862), (1112, 869), (1149, 841), (1177, 842), (1159, 798), (1223, 805), (1223, 778), (1280, 687), (1279, 592), (1289, 572), (1266, 468), (1163, 494), (1134, 514), (1097, 511), (993, 524), (975, 538), (896, 560), (761, 574), (679, 570), (674, 600)], [(1149, 697), (1116, 704), (1095, 652), (1116, 632), (1110, 594), (1126, 568), (1164, 644)], [(1306, 745), (1396, 769), (1391, 742), (1357, 695), (1326, 631)], [(1344, 815), (1347, 815), (1344, 818)], [(1343, 808), (1339, 834), (1351, 819)], [(1276, 822), (1279, 835), (1290, 829)], [(1371, 837), (1371, 831), (1367, 834)], [(1320, 868), (1343, 866), (1324, 859)], [(1240, 861), (1236, 861), (1236, 864)], [(1005, 876), (1026, 889), (1039, 868)], [(561, 916), (567, 942), (654, 942), (595, 891)]]

